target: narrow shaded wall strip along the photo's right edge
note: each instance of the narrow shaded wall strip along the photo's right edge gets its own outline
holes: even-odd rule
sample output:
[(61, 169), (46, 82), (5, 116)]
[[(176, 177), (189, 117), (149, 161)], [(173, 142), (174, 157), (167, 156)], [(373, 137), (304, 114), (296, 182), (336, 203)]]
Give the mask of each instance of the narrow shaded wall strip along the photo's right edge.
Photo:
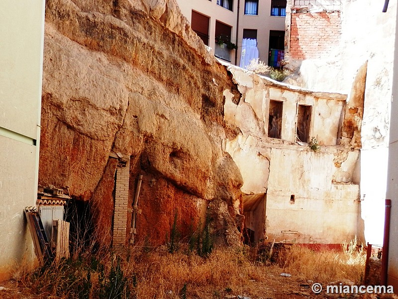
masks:
[[(389, 8), (390, 9), (390, 8)], [(398, 9), (391, 9), (397, 13)], [(398, 21), (397, 21), (398, 25)], [(389, 145), (389, 167), (386, 198), (391, 199), (391, 223), (390, 223), (390, 250), (388, 260), (387, 284), (393, 285), (398, 290), (398, 35), (395, 35), (394, 55), (394, 84), (393, 102), (391, 103), (391, 127)]]

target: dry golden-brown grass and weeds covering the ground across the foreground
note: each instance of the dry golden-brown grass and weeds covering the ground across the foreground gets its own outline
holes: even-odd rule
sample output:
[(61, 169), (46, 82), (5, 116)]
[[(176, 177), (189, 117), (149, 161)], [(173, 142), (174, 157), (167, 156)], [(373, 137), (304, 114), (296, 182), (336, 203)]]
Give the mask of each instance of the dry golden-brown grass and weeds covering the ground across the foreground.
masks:
[[(350, 247), (351, 248), (351, 247)], [(257, 247), (212, 250), (199, 256), (189, 244), (170, 253), (167, 246), (74, 256), (18, 281), (39, 298), (301, 298), (308, 281), (361, 284), (365, 255), (354, 251), (314, 251), (298, 245), (277, 251), (270, 262)], [(282, 277), (289, 273), (292, 277)], [(304, 293), (303, 293), (304, 292)]]

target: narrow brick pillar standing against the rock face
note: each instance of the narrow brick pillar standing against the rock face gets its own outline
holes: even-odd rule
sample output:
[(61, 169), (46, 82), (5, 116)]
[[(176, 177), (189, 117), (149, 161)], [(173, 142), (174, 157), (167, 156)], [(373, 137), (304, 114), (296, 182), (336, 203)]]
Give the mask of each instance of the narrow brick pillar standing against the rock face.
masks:
[(118, 164), (116, 170), (115, 206), (113, 216), (113, 246), (125, 245), (128, 206), (130, 160), (126, 165)]

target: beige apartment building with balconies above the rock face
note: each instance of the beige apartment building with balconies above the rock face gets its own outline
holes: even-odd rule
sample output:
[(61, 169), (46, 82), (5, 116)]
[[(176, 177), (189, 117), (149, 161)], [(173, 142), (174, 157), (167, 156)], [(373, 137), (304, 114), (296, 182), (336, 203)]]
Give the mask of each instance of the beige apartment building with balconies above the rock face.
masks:
[(284, 58), (286, 0), (177, 0), (214, 55), (245, 67), (252, 58)]

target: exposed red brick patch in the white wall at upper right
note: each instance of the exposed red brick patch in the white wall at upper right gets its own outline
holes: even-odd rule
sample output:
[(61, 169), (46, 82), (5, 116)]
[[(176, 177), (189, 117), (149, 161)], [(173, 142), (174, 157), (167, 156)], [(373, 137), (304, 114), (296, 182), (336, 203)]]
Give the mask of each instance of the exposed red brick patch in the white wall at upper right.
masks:
[(326, 58), (339, 46), (339, 11), (292, 13), (290, 55), (294, 59)]

